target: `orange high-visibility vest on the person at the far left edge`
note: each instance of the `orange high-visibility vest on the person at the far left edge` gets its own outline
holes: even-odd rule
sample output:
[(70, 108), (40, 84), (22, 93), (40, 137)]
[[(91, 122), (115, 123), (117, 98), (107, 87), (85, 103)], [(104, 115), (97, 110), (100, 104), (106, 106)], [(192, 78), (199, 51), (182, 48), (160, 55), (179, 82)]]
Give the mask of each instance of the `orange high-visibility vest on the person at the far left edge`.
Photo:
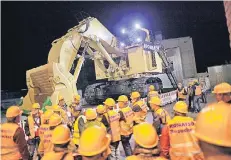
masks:
[(21, 158), (18, 145), (13, 137), (19, 126), (15, 123), (0, 124), (1, 127), (1, 159), (16, 160)]

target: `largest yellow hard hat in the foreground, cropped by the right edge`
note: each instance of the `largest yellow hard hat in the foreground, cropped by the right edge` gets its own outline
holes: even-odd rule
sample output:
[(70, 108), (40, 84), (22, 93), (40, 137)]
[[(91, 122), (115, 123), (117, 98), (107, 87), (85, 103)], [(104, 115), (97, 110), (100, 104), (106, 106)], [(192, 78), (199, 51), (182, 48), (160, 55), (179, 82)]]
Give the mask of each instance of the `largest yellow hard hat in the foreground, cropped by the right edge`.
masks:
[(195, 135), (201, 141), (231, 147), (231, 105), (219, 102), (204, 108), (197, 116)]

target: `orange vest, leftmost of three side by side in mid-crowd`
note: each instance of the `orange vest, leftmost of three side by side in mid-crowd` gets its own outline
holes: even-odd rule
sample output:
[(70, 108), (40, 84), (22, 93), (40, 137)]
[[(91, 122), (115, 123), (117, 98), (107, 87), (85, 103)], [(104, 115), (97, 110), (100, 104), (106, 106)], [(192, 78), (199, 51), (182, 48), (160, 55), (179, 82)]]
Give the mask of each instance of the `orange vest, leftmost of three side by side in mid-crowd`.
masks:
[(110, 125), (111, 128), (111, 138), (112, 138), (112, 142), (117, 142), (121, 140), (121, 136), (120, 136), (120, 115), (118, 112), (116, 112), (115, 110), (109, 110), (107, 112), (107, 119), (108, 119), (108, 123)]

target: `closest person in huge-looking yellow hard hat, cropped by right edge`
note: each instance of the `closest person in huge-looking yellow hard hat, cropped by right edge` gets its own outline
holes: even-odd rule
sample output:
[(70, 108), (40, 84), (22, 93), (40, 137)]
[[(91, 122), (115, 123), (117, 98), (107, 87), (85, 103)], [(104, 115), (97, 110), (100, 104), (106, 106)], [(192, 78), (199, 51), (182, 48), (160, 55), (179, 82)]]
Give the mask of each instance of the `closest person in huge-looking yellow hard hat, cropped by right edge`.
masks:
[(206, 160), (231, 159), (231, 105), (211, 104), (197, 116), (195, 135)]

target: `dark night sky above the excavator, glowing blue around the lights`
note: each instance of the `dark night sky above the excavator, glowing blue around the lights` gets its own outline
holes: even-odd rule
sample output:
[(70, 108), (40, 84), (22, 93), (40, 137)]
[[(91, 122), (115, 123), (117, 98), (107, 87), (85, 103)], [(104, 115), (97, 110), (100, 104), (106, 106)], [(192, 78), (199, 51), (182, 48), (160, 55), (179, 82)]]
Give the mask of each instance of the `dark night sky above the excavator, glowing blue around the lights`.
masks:
[(98, 18), (116, 36), (121, 27), (134, 21), (152, 31), (162, 31), (166, 39), (191, 36), (198, 72), (231, 60), (223, 2), (1, 4), (2, 90), (26, 88), (26, 70), (46, 64), (51, 42), (78, 24), (74, 15), (80, 11)]

